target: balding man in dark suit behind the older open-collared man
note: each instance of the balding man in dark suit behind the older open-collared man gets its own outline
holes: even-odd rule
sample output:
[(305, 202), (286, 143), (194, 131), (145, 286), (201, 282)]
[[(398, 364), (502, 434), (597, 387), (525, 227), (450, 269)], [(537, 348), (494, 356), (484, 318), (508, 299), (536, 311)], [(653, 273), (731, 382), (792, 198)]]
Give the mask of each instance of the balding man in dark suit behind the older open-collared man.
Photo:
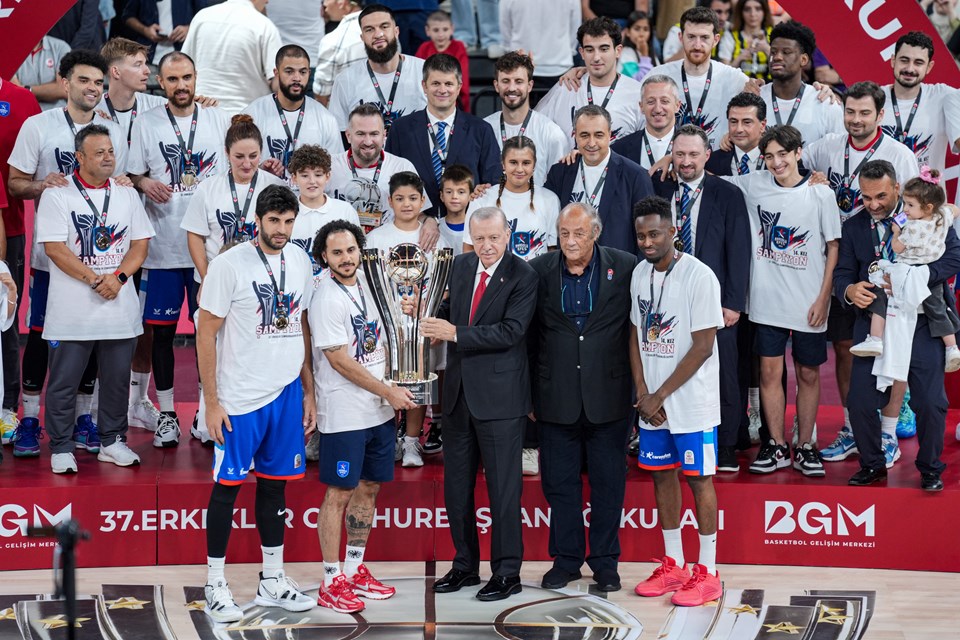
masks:
[(636, 163), (610, 151), (610, 114), (599, 105), (580, 107), (574, 115), (580, 157), (550, 168), (544, 185), (560, 204), (586, 202), (600, 213), (598, 243), (636, 255), (633, 203), (653, 195), (650, 176)]

